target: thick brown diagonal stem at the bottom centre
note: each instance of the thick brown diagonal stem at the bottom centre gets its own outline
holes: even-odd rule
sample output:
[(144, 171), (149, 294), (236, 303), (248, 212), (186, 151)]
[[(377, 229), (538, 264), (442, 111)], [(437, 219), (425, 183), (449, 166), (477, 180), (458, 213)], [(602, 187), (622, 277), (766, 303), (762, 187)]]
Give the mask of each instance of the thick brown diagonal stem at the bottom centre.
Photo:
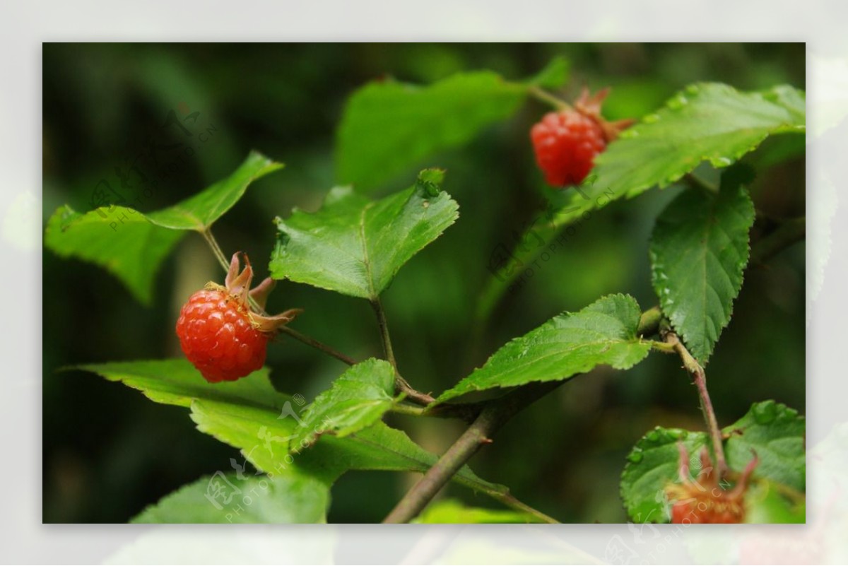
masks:
[[(483, 444), (492, 442), (494, 435), (513, 415), (543, 397), (561, 381), (531, 383), (489, 402), (471, 426), (444, 452), (442, 458), (418, 480), (403, 499), (388, 513), (383, 523), (408, 523), (427, 507), (433, 497), (449, 482)], [(550, 518), (549, 518), (550, 519)]]

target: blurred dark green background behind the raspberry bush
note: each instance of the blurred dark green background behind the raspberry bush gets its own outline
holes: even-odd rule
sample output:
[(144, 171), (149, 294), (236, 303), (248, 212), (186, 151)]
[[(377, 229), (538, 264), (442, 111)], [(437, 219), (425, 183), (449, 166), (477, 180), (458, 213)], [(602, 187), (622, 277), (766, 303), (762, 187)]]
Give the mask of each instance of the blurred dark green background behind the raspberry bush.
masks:
[[(572, 69), (564, 97), (584, 85), (612, 86), (610, 119), (647, 114), (700, 80), (745, 90), (805, 87), (804, 44), (45, 44), (44, 219), (64, 203), (92, 209), (98, 180), (114, 177), (115, 167), (141, 152), (171, 110), (188, 108), (214, 133), (137, 208), (162, 208), (209, 186), (251, 149), (286, 163), (216, 225), (225, 251), (248, 252), (265, 276), (273, 217), (293, 206), (317, 208), (333, 184), (334, 131), (357, 87), (384, 75), (429, 83), (471, 69), (521, 79), (557, 55)], [(457, 224), (401, 269), (384, 297), (400, 368), (422, 391), (444, 391), (505, 341), (606, 293), (630, 293), (643, 308), (656, 304), (647, 243), (678, 187), (594, 213), (532, 280), (505, 296), (484, 329), (474, 328), (491, 252), (550, 194), (528, 139), (548, 110), (528, 102), (466, 147), (421, 164), (447, 169), (444, 189), (460, 203)], [(767, 149), (750, 159), (756, 163)], [(416, 172), (382, 194), (409, 186)], [(803, 154), (760, 171), (751, 187), (758, 210), (776, 218), (804, 214), (804, 174)], [(746, 273), (734, 319), (707, 366), (722, 425), (766, 398), (804, 412), (804, 259), (799, 244)], [(181, 303), (221, 275), (204, 241), (190, 234), (165, 262), (153, 305), (145, 307), (103, 269), (44, 252), (44, 522), (124, 522), (179, 486), (230, 469), (237, 451), (194, 430), (187, 411), (95, 375), (57, 373), (75, 363), (180, 356), (174, 324)], [(367, 302), (282, 282), (270, 310), (290, 307), (306, 309), (297, 330), (354, 358), (380, 355)], [(279, 389), (308, 399), (344, 369), (288, 340), (271, 345), (268, 365)], [(618, 477), (633, 443), (655, 425), (703, 430), (695, 389), (679, 365), (655, 353), (628, 372), (578, 377), (517, 416), (471, 466), (562, 521), (623, 522)], [(447, 420), (389, 419), (436, 452), (461, 430)], [(379, 521), (414, 480), (347, 474), (333, 488), (329, 518)], [(493, 506), (462, 487), (447, 493)]]

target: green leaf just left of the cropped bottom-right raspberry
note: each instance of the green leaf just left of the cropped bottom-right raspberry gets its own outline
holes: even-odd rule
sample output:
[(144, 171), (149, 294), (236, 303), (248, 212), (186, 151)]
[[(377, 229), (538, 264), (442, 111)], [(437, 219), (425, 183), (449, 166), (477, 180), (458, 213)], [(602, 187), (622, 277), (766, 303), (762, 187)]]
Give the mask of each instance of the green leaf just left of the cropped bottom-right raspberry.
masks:
[(665, 489), (678, 480), (678, 442), (691, 456), (707, 445), (707, 436), (658, 426), (639, 439), (628, 454), (620, 488), (624, 508), (634, 523), (667, 523), (670, 519)]

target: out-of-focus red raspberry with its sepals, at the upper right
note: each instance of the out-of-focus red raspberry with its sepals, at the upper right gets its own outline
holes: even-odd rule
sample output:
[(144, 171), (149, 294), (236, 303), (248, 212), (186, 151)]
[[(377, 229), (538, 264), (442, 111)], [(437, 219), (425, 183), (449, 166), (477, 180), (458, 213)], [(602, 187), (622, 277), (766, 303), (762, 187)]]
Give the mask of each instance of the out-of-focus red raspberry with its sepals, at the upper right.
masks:
[(533, 151), (549, 185), (582, 183), (592, 170), (595, 156), (632, 123), (632, 120), (610, 123), (601, 117), (600, 105), (608, 93), (609, 89), (605, 89), (589, 97), (589, 91), (584, 90), (574, 108), (545, 114), (533, 125), (530, 130)]

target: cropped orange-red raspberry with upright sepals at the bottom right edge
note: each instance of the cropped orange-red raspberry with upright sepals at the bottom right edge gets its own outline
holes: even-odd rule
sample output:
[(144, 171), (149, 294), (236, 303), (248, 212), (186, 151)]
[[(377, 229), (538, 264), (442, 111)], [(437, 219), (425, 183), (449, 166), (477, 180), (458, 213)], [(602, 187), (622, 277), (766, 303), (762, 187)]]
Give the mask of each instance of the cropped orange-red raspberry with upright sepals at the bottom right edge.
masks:
[(700, 452), (700, 472), (695, 480), (689, 475), (689, 453), (678, 443), (680, 483), (666, 487), (666, 497), (672, 504), (672, 523), (743, 523), (745, 521), (745, 492), (750, 474), (759, 459), (754, 458), (739, 475), (736, 485), (718, 477), (706, 447)]

